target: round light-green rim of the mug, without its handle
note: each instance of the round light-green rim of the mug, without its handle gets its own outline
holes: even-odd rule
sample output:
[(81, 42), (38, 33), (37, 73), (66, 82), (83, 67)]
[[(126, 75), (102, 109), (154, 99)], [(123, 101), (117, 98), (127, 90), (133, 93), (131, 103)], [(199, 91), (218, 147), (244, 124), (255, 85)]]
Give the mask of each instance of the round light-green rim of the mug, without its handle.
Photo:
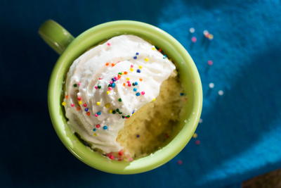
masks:
[[(56, 91), (58, 90), (58, 84), (60, 85), (62, 90), (62, 83), (65, 80), (64, 77), (67, 73), (66, 70), (68, 70), (68, 67), (66, 68), (66, 66), (68, 64), (71, 65), (70, 61), (67, 60), (67, 58), (70, 59), (70, 56), (74, 56), (72, 54), (78, 53), (77, 51), (85, 51), (86, 48), (84, 46), (86, 46), (86, 40), (91, 35), (94, 35), (94, 33), (102, 32), (105, 29), (110, 30), (122, 25), (126, 27), (137, 27), (139, 30), (142, 30), (142, 32), (155, 32), (157, 33), (157, 35), (159, 35), (159, 37), (165, 39), (166, 42), (176, 48), (178, 55), (181, 55), (181, 57), (184, 58), (185, 63), (188, 65), (188, 68), (191, 69), (191, 77), (193, 79), (193, 82), (195, 82), (195, 84), (192, 84), (192, 89), (194, 89), (193, 92), (195, 93), (193, 101), (194, 106), (192, 107), (194, 109), (193, 120), (192, 123), (185, 123), (181, 131), (178, 132), (174, 139), (169, 142), (169, 144), (172, 144), (171, 142), (174, 142), (176, 146), (169, 146), (169, 144), (167, 144), (162, 149), (159, 149), (158, 151), (155, 151), (155, 153), (150, 154), (150, 156), (139, 158), (131, 163), (124, 161), (110, 161), (100, 155), (100, 153), (98, 153), (99, 156), (97, 156), (96, 154), (94, 154), (96, 152), (88, 151), (91, 149), (87, 149), (87, 146), (81, 143), (76, 143), (77, 145), (74, 146), (74, 142), (72, 142), (72, 140), (70, 139), (70, 135), (67, 135), (64, 129), (67, 128), (66, 126), (68, 125), (65, 125), (65, 122), (63, 120), (64, 114), (61, 114), (61, 96), (58, 96), (58, 94), (56, 94), (58, 92)], [(122, 33), (121, 35), (123, 34), (124, 33)], [(92, 46), (93, 45), (95, 44), (92, 44)], [(81, 53), (78, 54), (81, 55)], [(92, 168), (96, 168), (107, 173), (143, 173), (145, 171), (157, 168), (160, 165), (163, 165), (164, 163), (170, 161), (171, 158), (174, 158), (174, 156), (176, 156), (191, 139), (192, 134), (195, 132), (197, 124), (200, 120), (202, 111), (202, 84), (195, 63), (192, 61), (192, 58), (188, 54), (188, 51), (186, 51), (185, 48), (176, 39), (174, 39), (174, 37), (169, 35), (167, 32), (164, 32), (164, 30), (161, 30), (158, 27), (155, 27), (148, 23), (142, 23), (132, 20), (117, 20), (96, 25), (89, 28), (89, 30), (82, 32), (78, 37), (74, 38), (71, 44), (67, 46), (67, 49), (65, 49), (63, 54), (60, 55), (58, 61), (55, 63), (55, 67), (53, 68), (53, 71), (51, 73), (51, 78), (48, 85), (48, 109), (53, 127), (55, 129), (55, 132), (58, 134), (58, 137), (63, 142), (65, 147), (80, 161), (86, 163)], [(62, 125), (62, 123), (64, 123), (64, 125)], [(187, 127), (187, 125), (189, 127)], [(183, 139), (183, 137), (185, 137), (185, 139)], [(106, 160), (104, 160), (104, 158)]]

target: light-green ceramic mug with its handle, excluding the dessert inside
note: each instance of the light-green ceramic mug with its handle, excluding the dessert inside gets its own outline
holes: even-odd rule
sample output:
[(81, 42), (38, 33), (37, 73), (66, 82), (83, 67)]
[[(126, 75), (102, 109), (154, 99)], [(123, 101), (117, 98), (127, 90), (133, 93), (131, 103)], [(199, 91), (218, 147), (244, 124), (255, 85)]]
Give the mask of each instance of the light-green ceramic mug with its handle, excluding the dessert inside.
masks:
[[(178, 132), (166, 146), (149, 156), (135, 161), (111, 161), (85, 146), (71, 132), (67, 125), (63, 106), (63, 83), (72, 62), (105, 39), (123, 34), (137, 35), (155, 46), (159, 46), (171, 58), (178, 69), (181, 82), (187, 93), (188, 102), (184, 106), (184, 115), (180, 120)], [(202, 110), (202, 84), (192, 58), (184, 47), (168, 33), (158, 27), (137, 21), (121, 20), (103, 23), (72, 37), (58, 23), (47, 20), (39, 28), (39, 35), (58, 54), (48, 85), (48, 109), (55, 132), (67, 149), (87, 165), (107, 173), (135, 174), (163, 165), (174, 158), (188, 143), (195, 132)]]

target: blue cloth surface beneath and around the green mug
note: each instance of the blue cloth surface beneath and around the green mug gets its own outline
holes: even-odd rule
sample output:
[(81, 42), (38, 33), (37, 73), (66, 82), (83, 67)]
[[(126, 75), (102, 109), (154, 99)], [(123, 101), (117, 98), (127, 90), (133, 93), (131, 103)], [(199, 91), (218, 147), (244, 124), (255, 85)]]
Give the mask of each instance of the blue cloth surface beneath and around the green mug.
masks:
[[(280, 12), (277, 0), (2, 0), (1, 187), (239, 187), (280, 168)], [(48, 78), (58, 55), (37, 35), (48, 18), (74, 36), (126, 19), (157, 25), (178, 39), (202, 78), (201, 144), (192, 139), (172, 161), (139, 175), (102, 173), (72, 156), (48, 116)], [(211, 42), (202, 42), (203, 30), (214, 35)], [(210, 68), (208, 60), (214, 61)]]

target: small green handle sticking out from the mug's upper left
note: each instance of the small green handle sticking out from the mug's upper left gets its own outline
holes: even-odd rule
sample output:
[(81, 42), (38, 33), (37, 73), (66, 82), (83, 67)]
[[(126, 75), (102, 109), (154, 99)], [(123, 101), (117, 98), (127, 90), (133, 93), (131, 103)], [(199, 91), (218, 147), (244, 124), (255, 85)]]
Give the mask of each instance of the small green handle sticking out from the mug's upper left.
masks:
[(46, 20), (38, 32), (40, 37), (58, 54), (63, 54), (63, 51), (74, 39), (70, 32), (54, 20)]

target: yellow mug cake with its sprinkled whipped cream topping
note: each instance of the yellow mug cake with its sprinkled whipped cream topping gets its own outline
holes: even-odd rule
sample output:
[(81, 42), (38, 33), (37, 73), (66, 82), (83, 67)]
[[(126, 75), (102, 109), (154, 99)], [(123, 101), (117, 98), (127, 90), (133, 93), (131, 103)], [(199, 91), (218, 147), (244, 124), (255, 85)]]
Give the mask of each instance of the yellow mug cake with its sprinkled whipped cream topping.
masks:
[(71, 130), (112, 160), (131, 161), (159, 149), (181, 114), (176, 67), (135, 35), (112, 37), (72, 63), (65, 81)]

